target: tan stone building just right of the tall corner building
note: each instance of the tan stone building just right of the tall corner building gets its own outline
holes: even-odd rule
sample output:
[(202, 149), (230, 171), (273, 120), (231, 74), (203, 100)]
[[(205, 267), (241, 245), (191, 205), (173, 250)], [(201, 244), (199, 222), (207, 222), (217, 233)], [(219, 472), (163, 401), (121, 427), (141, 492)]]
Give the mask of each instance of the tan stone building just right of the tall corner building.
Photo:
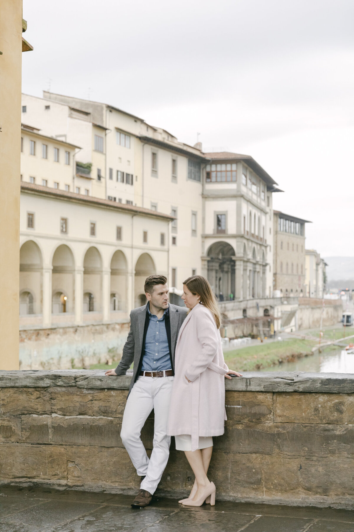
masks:
[(274, 290), (282, 296), (305, 295), (305, 223), (308, 220), (273, 211)]

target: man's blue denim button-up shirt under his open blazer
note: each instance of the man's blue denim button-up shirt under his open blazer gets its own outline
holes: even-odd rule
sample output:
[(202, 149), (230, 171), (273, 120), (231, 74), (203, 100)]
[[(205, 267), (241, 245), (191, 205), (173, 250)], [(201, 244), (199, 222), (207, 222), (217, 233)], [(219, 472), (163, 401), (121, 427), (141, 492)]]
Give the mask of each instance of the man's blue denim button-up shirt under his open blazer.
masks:
[(168, 308), (162, 318), (158, 319), (156, 315), (151, 314), (148, 302), (146, 312), (149, 313), (149, 327), (146, 331), (141, 371), (171, 369), (170, 348), (165, 327), (165, 315), (168, 313)]

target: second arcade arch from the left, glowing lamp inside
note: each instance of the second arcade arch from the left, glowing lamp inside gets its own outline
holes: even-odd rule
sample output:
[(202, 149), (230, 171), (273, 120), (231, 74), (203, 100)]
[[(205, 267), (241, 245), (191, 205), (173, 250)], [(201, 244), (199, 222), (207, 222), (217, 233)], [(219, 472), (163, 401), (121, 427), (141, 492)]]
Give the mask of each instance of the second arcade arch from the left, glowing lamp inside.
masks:
[(70, 247), (66, 244), (59, 245), (51, 262), (53, 265), (51, 311), (53, 314), (73, 312), (75, 261)]

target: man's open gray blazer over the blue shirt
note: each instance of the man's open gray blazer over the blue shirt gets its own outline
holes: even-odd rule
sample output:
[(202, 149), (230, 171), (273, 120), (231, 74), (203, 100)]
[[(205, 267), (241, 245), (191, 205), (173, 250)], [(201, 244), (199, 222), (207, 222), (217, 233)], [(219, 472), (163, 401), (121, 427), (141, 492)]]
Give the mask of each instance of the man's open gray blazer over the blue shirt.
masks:
[[(182, 306), (168, 305), (170, 330), (171, 330), (171, 355), (173, 369), (175, 365), (175, 348), (180, 326), (187, 317), (187, 309)], [(143, 339), (144, 339), (144, 326), (146, 318), (146, 305), (140, 306), (137, 309), (133, 309), (130, 313), (131, 326), (128, 334), (128, 338), (123, 347), (122, 359), (120, 359), (115, 372), (117, 375), (125, 375), (127, 370), (133, 366), (133, 378), (129, 386), (129, 393), (133, 388), (133, 385), (137, 379), (137, 372), (139, 371), (140, 362), (143, 357)], [(128, 395), (129, 395), (128, 393)]]

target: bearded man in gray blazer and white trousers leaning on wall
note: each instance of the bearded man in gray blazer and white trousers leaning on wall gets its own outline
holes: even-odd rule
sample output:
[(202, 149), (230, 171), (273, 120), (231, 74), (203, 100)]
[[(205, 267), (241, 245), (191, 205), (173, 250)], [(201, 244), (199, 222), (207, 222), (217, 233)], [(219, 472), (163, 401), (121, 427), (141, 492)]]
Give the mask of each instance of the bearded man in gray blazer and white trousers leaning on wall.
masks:
[[(148, 303), (130, 314), (131, 328), (123, 355), (115, 370), (106, 375), (125, 375), (134, 361), (120, 437), (137, 474), (139, 493), (132, 506), (143, 508), (166, 467), (171, 437), (167, 436), (167, 418), (174, 379), (175, 347), (187, 309), (168, 303), (167, 278), (151, 275), (145, 280)], [(140, 439), (146, 418), (154, 409), (154, 437), (150, 460)]]

